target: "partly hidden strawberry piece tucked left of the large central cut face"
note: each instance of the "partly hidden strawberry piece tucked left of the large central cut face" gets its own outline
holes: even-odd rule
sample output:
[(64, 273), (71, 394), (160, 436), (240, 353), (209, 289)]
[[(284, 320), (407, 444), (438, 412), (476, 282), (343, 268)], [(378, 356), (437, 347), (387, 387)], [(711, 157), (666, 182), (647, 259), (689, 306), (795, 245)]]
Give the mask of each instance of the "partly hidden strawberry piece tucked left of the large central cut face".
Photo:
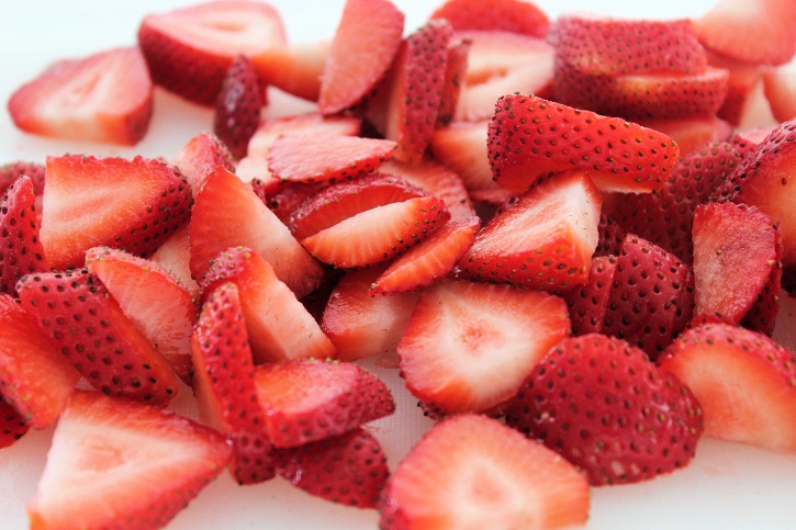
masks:
[(412, 316), (419, 291), (372, 296), (370, 287), (383, 268), (346, 272), (329, 295), (321, 327), (339, 361), (394, 353)]

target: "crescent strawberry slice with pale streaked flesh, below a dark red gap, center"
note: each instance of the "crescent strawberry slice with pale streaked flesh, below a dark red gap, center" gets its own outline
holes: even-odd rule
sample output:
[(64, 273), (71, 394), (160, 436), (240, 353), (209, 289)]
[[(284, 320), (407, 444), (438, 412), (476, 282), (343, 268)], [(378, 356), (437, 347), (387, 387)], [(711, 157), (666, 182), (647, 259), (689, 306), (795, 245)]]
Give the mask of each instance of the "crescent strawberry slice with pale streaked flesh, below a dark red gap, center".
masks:
[(301, 240), (315, 258), (337, 268), (389, 262), (425, 239), (449, 215), (436, 196), (368, 210)]

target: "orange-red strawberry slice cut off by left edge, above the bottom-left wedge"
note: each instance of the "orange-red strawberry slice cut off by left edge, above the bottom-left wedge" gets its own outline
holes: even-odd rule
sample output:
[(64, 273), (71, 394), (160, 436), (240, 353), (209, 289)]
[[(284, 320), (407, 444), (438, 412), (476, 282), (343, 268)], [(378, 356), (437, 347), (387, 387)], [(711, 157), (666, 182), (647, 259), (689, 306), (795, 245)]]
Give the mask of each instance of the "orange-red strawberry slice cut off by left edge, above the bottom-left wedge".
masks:
[(26, 425), (43, 429), (64, 410), (79, 379), (75, 367), (38, 330), (35, 319), (11, 296), (0, 295), (2, 403), (8, 402)]

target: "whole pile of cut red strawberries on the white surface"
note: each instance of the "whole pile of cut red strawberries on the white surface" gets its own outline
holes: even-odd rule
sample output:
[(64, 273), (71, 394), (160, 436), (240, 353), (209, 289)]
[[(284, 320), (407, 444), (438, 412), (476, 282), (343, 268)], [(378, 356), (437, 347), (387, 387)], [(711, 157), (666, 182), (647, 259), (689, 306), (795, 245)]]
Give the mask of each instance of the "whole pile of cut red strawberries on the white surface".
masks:
[[(347, 0), (289, 43), (221, 0), (47, 68), (26, 133), (135, 145), (155, 86), (214, 126), (2, 167), (0, 446), (55, 425), (32, 528), (160, 528), (224, 470), (383, 529), (558, 528), (704, 436), (796, 451), (794, 20)], [(745, 129), (760, 87), (782, 124)], [(377, 356), (436, 421), (392, 470)]]

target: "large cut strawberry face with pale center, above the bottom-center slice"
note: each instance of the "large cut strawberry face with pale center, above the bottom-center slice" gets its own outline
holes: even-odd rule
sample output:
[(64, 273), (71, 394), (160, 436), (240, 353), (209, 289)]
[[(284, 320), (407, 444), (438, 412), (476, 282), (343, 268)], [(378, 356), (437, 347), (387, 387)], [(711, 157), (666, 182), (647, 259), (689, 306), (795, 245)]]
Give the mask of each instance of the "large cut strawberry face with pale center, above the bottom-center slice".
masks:
[(498, 407), (570, 332), (558, 296), (509, 285), (442, 280), (417, 301), (397, 354), (406, 387), (442, 414)]

